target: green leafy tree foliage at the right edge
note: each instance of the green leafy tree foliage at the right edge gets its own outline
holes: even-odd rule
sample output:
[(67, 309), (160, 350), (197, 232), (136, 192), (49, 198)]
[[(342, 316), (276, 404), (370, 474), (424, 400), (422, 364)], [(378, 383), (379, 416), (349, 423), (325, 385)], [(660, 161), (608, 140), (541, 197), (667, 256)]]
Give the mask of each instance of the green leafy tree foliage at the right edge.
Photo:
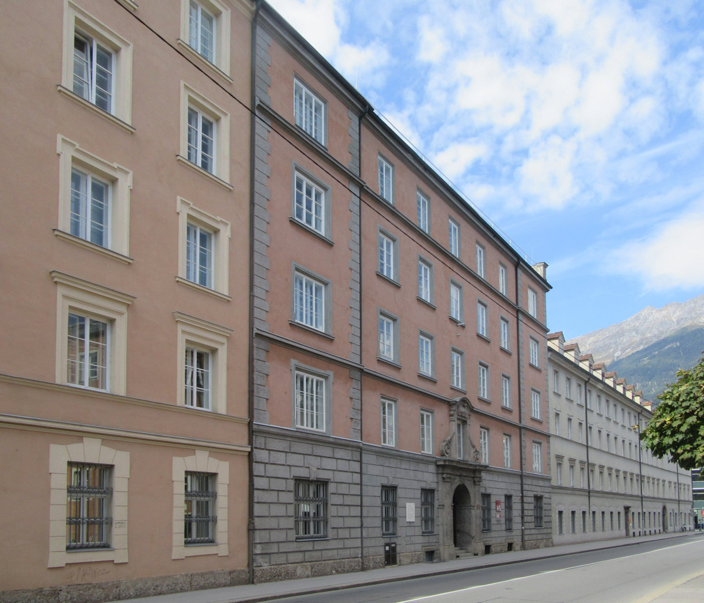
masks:
[(677, 371), (677, 381), (658, 398), (641, 440), (653, 455), (667, 455), (682, 469), (704, 467), (704, 358), (693, 369)]

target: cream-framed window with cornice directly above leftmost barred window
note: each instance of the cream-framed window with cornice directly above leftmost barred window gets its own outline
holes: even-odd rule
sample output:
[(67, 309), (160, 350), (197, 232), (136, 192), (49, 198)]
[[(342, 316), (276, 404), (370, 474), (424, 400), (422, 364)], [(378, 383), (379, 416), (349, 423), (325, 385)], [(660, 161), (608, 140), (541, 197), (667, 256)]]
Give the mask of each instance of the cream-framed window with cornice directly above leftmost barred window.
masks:
[(58, 294), (56, 382), (125, 394), (133, 296), (51, 272)]

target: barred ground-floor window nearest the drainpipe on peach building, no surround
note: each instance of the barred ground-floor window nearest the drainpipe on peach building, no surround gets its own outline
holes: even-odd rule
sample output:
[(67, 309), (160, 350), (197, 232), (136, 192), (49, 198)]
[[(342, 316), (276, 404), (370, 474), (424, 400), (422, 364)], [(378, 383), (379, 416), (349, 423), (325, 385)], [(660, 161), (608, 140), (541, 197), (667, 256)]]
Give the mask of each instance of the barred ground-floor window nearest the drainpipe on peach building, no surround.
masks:
[(184, 542), (215, 542), (215, 474), (186, 471)]

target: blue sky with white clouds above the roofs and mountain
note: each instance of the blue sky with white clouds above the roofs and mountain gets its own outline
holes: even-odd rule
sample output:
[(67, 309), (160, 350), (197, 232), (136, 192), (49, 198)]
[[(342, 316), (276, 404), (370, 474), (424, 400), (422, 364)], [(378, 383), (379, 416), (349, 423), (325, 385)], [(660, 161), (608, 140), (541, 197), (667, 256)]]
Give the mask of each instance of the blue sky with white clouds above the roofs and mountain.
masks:
[(566, 338), (704, 293), (700, 0), (270, 0), (533, 262)]

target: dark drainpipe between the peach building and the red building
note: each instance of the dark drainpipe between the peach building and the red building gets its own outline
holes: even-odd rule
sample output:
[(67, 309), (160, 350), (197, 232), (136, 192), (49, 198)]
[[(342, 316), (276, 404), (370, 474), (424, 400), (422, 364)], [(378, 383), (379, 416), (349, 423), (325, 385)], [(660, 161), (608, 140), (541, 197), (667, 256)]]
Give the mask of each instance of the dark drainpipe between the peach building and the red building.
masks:
[(251, 31), (251, 128), (249, 141), (249, 425), (247, 436), (249, 438), (249, 487), (247, 522), (247, 569), (249, 583), (254, 583), (254, 130), (256, 127), (256, 30), (260, 4), (256, 1), (252, 18)]

